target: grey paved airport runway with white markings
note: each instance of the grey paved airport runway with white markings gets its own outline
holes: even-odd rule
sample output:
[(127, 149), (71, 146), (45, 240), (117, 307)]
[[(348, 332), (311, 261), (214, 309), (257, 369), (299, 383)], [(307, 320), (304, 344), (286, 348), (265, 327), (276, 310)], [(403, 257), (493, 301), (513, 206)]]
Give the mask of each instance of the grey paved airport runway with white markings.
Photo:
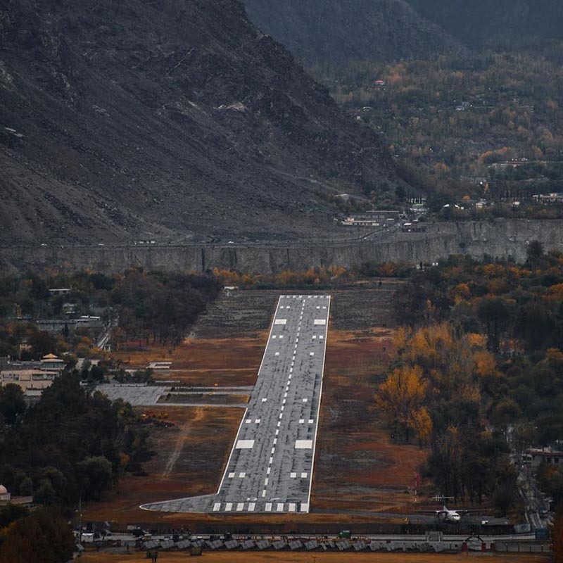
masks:
[(281, 296), (215, 495), (143, 505), (166, 512), (309, 512), (330, 296)]

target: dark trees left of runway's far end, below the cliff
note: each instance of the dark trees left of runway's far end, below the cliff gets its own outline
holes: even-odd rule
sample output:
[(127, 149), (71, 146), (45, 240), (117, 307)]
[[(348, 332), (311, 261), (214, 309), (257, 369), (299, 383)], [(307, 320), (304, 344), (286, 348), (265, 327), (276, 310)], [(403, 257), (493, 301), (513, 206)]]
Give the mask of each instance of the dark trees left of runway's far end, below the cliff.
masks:
[[(0, 279), (0, 355), (20, 360), (37, 360), (46, 353), (91, 355), (93, 336), (89, 331), (78, 328), (70, 334), (67, 324), (59, 334), (50, 334), (34, 321), (92, 314), (101, 315), (106, 323), (118, 319), (113, 334), (117, 344), (150, 339), (174, 346), (220, 287), (212, 274), (134, 269), (112, 276), (89, 271), (5, 276)], [(51, 295), (49, 289), (60, 288), (70, 291)]]

